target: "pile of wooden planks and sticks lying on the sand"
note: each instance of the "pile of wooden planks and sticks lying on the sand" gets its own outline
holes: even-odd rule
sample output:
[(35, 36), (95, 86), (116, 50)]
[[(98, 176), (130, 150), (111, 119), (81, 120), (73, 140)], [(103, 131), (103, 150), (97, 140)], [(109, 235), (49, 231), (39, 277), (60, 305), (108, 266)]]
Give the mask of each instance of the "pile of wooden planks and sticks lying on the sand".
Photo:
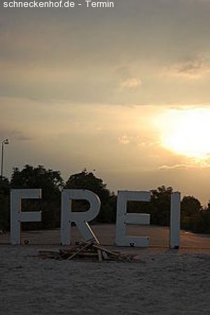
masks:
[(88, 260), (98, 260), (98, 261), (131, 261), (134, 259), (134, 255), (120, 253), (119, 251), (110, 251), (104, 248), (100, 244), (94, 244), (92, 241), (81, 241), (78, 245), (72, 248), (61, 248), (58, 251), (39, 251), (38, 257), (56, 260), (71, 260), (75, 258), (83, 258)]

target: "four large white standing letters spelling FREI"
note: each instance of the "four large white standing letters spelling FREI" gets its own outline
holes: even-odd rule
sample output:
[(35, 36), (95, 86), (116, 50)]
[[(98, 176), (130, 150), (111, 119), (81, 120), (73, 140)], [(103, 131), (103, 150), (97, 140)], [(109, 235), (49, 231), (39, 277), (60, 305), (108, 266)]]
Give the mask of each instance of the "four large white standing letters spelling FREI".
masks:
[[(22, 199), (41, 198), (41, 189), (12, 189), (10, 191), (10, 242), (21, 244), (21, 223), (41, 221), (41, 211), (22, 211)], [(72, 211), (73, 200), (87, 200), (90, 208), (85, 212)], [(148, 237), (126, 236), (126, 225), (149, 225), (150, 214), (127, 213), (127, 202), (150, 202), (149, 191), (118, 191), (116, 218), (116, 246), (148, 247)], [(179, 248), (180, 231), (180, 202), (179, 192), (172, 193), (170, 207), (169, 247)], [(86, 241), (95, 239), (93, 230), (88, 224), (99, 214), (101, 202), (99, 197), (90, 190), (65, 189), (62, 191), (60, 242), (62, 245), (71, 244), (71, 223), (75, 223)]]

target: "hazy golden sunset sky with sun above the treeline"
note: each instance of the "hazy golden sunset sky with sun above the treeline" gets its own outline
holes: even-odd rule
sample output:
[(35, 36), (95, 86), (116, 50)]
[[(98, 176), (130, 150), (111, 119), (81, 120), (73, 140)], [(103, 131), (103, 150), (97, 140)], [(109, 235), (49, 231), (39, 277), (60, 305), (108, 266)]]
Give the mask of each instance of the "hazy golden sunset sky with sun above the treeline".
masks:
[(210, 1), (78, 2), (0, 2), (4, 175), (86, 167), (115, 192), (165, 185), (207, 204)]

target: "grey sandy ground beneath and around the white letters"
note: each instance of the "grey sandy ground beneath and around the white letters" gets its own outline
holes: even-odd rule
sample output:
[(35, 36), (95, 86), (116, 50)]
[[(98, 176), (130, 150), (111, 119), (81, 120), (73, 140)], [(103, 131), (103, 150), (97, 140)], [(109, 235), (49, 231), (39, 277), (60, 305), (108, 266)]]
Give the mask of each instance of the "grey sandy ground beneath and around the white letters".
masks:
[[(113, 225), (94, 231), (112, 248)], [(59, 230), (27, 232), (27, 246), (1, 235), (0, 314), (210, 314), (210, 237), (181, 231), (172, 251), (167, 228), (130, 232), (151, 237), (150, 248), (120, 248), (135, 262), (41, 260), (38, 250), (60, 247)]]

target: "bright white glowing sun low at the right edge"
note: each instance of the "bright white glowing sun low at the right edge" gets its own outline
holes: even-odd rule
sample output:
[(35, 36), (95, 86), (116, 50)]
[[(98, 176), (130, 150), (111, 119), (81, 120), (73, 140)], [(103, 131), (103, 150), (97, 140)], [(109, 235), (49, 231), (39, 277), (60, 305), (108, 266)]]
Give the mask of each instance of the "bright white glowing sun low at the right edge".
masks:
[(172, 109), (159, 120), (162, 146), (189, 158), (210, 157), (210, 109)]

